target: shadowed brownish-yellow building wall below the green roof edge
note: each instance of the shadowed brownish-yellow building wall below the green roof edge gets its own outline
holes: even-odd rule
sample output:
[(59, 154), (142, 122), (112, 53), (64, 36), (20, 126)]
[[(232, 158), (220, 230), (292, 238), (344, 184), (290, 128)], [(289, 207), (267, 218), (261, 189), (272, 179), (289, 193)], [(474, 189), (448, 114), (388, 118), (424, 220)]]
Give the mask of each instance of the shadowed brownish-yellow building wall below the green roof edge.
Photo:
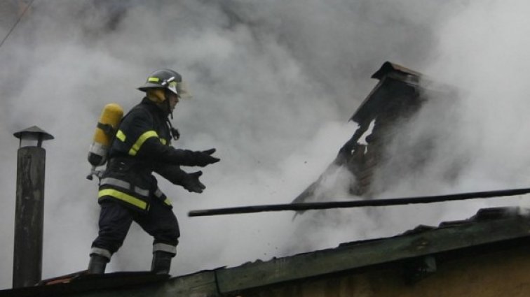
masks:
[[(438, 256), (440, 257), (440, 256)], [(423, 280), (405, 281), (404, 263), (355, 273), (276, 285), (243, 292), (241, 297), (523, 297), (530, 296), (528, 245), (467, 252), (437, 261)]]

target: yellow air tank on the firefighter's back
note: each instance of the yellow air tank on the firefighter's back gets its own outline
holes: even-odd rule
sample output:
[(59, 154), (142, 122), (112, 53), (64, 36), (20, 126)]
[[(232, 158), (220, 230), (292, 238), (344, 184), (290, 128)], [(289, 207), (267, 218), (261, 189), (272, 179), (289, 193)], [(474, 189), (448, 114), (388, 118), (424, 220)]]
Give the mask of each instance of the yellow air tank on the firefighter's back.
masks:
[(94, 139), (88, 150), (88, 162), (93, 166), (101, 166), (107, 161), (107, 151), (116, 135), (116, 129), (123, 117), (123, 108), (116, 103), (107, 104), (100, 115), (94, 133)]

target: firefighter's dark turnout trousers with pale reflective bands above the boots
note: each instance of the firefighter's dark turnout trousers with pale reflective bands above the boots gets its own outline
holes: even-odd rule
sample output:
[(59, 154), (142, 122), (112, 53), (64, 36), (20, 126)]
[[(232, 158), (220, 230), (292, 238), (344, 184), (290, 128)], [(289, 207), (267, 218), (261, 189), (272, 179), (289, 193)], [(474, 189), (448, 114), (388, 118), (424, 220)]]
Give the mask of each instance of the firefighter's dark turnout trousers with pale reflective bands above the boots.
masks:
[(153, 236), (153, 252), (161, 251), (175, 255), (180, 236), (177, 217), (162, 201), (151, 200), (147, 213), (137, 212), (116, 201), (102, 201), (100, 231), (92, 243), (90, 254), (100, 254), (110, 259), (123, 244), (132, 222), (136, 222)]

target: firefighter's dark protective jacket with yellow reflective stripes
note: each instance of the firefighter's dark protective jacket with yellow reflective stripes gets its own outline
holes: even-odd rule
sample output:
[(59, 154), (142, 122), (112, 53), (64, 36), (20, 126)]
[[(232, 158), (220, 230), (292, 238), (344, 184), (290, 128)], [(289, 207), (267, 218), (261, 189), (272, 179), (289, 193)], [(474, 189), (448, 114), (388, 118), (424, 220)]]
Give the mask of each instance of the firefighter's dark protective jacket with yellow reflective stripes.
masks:
[(193, 152), (170, 145), (168, 114), (144, 98), (123, 117), (109, 150), (109, 163), (100, 180), (99, 202), (112, 200), (133, 210), (149, 211), (151, 199), (171, 208), (158, 189), (155, 172), (179, 184), (186, 173), (179, 165), (194, 165)]

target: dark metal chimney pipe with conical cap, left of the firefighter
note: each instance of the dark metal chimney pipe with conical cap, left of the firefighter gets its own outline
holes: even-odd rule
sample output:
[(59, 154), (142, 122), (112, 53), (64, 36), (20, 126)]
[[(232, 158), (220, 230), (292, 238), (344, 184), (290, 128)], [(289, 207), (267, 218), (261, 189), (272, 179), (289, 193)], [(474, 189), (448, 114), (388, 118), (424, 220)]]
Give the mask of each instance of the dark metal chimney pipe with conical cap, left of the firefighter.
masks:
[(17, 160), (13, 288), (32, 287), (40, 282), (42, 277), (46, 150), (41, 145), (43, 140), (53, 139), (53, 136), (37, 126), (13, 133), (13, 136), (20, 139)]

